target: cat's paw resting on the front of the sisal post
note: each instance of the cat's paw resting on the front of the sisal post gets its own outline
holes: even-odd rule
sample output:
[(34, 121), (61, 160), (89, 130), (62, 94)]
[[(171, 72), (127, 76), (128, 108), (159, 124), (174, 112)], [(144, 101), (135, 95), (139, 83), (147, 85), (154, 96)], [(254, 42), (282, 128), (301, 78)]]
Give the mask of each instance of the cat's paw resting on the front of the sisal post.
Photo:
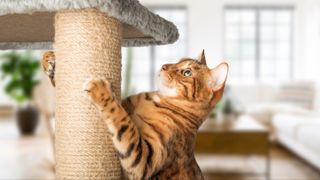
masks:
[(106, 79), (91, 79), (84, 87), (88, 97), (96, 104), (102, 104), (113, 98), (111, 85)]

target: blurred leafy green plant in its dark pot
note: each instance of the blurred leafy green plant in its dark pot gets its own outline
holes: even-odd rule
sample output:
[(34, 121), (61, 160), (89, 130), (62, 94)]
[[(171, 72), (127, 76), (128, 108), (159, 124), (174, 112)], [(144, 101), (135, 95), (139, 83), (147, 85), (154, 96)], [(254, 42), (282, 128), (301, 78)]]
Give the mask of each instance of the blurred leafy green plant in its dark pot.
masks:
[(33, 134), (38, 110), (32, 105), (32, 92), (38, 84), (39, 61), (31, 51), (11, 51), (0, 56), (0, 74), (4, 90), (18, 104), (17, 124), (21, 134)]

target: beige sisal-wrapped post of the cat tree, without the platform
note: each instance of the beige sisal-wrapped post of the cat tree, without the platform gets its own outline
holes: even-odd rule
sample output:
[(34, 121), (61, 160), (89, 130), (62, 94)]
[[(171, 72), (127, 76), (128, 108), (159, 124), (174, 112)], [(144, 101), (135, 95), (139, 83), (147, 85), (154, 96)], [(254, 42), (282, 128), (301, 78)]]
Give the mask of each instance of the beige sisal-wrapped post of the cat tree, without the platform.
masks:
[(96, 9), (55, 16), (56, 178), (120, 179), (121, 168), (98, 110), (83, 91), (105, 77), (120, 98), (121, 23)]

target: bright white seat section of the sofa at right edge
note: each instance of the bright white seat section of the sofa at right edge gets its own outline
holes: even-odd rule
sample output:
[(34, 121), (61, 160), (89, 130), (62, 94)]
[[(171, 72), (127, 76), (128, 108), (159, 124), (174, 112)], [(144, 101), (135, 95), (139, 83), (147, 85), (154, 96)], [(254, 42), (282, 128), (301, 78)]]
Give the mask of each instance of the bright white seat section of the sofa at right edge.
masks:
[(320, 115), (276, 114), (277, 140), (320, 170)]

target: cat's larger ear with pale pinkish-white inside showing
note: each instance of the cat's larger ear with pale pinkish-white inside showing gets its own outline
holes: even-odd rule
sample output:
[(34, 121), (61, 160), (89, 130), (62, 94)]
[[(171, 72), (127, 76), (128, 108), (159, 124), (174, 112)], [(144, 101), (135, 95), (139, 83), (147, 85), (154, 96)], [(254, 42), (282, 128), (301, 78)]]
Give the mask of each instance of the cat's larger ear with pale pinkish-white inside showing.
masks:
[(227, 81), (229, 71), (229, 65), (225, 62), (219, 64), (215, 68), (210, 70), (211, 74), (211, 89), (215, 91), (219, 91), (224, 88), (224, 85)]

